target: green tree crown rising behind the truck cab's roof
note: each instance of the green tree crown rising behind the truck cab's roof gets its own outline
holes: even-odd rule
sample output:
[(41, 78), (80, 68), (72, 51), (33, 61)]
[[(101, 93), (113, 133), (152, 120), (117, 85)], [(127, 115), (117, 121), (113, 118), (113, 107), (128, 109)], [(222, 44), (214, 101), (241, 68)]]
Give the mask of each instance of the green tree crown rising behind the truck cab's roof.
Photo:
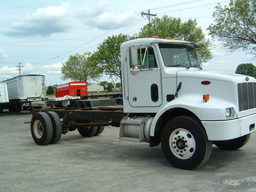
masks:
[(201, 52), (202, 62), (206, 62), (212, 59), (212, 53), (210, 51), (210, 46), (212, 43), (210, 39), (205, 38), (202, 28), (197, 27), (196, 25), (196, 19), (189, 19), (188, 21), (182, 23), (180, 18), (164, 15), (162, 18), (153, 18), (150, 24), (142, 27), (138, 37), (180, 37), (185, 41), (199, 45), (200, 48), (197, 48), (196, 51)]

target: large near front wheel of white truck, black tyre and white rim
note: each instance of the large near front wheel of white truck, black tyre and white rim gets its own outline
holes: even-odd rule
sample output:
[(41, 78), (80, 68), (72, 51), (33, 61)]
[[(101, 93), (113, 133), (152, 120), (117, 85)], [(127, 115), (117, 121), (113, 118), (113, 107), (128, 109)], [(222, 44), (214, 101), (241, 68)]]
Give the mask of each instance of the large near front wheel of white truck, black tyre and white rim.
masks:
[(174, 167), (191, 170), (209, 159), (212, 141), (208, 140), (204, 127), (196, 118), (180, 116), (165, 124), (161, 148)]

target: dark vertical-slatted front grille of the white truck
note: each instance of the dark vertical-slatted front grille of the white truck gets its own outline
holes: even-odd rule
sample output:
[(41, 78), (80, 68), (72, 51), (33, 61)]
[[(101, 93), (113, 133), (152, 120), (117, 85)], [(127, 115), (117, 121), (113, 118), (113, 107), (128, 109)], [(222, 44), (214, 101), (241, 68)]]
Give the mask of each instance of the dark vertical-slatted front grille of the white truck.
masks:
[(237, 84), (239, 111), (256, 108), (256, 83)]

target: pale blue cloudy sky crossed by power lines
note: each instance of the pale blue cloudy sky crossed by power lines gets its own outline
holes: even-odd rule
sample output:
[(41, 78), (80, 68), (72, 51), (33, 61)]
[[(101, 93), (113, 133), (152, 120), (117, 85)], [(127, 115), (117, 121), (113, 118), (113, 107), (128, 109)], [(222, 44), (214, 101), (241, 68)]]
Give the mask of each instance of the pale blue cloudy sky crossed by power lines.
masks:
[[(196, 18), (207, 36), (205, 29), (214, 23), (211, 15), (217, 3), (228, 5), (225, 0), (3, 1), (0, 7), (0, 81), (19, 75), (15, 66), (21, 62), (24, 66), (21, 74), (45, 75), (47, 86), (67, 83), (69, 80), (60, 79), (60, 68), (69, 55), (93, 52), (108, 36), (138, 33), (148, 23), (140, 13), (148, 9), (157, 17), (167, 14), (180, 17), (183, 22)], [(212, 53), (213, 59), (203, 63), (206, 70), (234, 72), (241, 63), (256, 64), (250, 60), (252, 55), (242, 51), (229, 54), (213, 46)], [(105, 80), (111, 82), (108, 76), (99, 79)]]

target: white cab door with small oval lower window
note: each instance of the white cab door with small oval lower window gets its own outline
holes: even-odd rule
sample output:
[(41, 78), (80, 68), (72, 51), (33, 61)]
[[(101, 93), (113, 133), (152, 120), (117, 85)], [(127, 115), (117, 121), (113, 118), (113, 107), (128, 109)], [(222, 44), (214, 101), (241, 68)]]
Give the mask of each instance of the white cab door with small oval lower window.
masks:
[[(131, 71), (127, 73), (129, 103), (133, 107), (160, 106), (162, 104), (161, 69), (157, 64), (158, 58), (154, 46), (147, 49), (138, 47), (139, 65), (143, 60), (144, 67), (139, 67), (138, 74), (132, 75)], [(130, 67), (128, 63), (128, 70)]]

